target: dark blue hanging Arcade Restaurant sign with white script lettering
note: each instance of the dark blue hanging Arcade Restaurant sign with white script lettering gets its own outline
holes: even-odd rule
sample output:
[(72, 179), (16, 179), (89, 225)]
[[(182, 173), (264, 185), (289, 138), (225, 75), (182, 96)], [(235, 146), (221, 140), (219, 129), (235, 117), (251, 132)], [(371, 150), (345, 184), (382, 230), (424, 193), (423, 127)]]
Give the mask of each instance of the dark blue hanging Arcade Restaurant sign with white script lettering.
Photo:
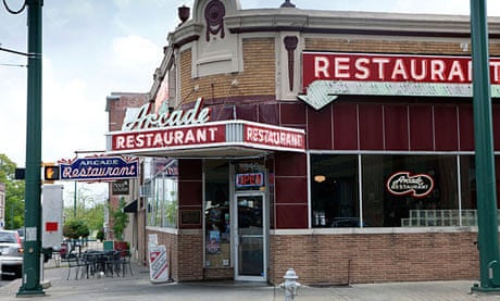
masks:
[(60, 162), (61, 180), (111, 180), (137, 178), (138, 159), (122, 156), (77, 158)]

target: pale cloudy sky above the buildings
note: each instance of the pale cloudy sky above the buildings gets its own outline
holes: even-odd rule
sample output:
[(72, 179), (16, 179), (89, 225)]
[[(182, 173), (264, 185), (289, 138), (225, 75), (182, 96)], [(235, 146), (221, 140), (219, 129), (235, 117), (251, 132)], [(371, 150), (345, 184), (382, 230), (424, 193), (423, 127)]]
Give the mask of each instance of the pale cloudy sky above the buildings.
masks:
[[(7, 0), (18, 10), (24, 0)], [(284, 0), (240, 0), (242, 9)], [(291, 0), (304, 10), (470, 13), (470, 0)], [(105, 97), (148, 92), (177, 8), (192, 0), (45, 0), (42, 7), (42, 162), (105, 149)], [(488, 1), (500, 16), (500, 1)], [(27, 51), (27, 10), (0, 2), (0, 47)], [(0, 51), (0, 153), (25, 165), (27, 60)], [(88, 153), (87, 153), (88, 152)]]

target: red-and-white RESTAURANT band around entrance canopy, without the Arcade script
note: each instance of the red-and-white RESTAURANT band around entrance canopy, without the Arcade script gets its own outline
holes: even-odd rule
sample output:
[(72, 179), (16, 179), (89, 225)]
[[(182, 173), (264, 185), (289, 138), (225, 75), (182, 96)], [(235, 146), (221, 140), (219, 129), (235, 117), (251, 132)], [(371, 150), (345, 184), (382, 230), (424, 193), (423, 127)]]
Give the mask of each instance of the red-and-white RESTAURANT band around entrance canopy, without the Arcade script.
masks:
[(214, 147), (266, 150), (305, 150), (303, 129), (225, 121), (192, 126), (176, 126), (108, 134), (110, 153), (148, 153)]

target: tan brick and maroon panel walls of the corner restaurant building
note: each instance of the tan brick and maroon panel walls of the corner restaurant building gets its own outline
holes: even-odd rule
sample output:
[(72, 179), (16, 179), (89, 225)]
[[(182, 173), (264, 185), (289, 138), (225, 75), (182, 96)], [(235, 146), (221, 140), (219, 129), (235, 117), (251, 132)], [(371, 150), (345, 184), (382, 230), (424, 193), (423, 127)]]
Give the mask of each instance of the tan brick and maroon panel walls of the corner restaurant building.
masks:
[[(199, 13), (208, 0), (195, 2)], [(230, 0), (222, 2), (233, 3)], [(249, 13), (239, 15), (236, 11), (226, 17), (226, 34), (237, 35), (237, 45), (241, 47), (242, 63), (238, 72), (193, 76), (193, 68), (201, 64), (195, 60), (199, 58), (198, 52), (202, 52), (199, 45), (200, 39), (204, 39), (203, 25), (187, 22), (183, 25), (186, 27), (180, 26), (178, 38), (171, 36), (175, 46), (172, 53), (175, 52), (178, 60), (175, 68), (179, 83), (176, 88), (180, 98), (174, 103), (189, 105), (198, 97), (203, 97), (204, 105), (212, 109), (212, 121), (240, 118), (301, 128), (307, 133), (307, 149), (325, 153), (397, 151), (408, 154), (473, 150), (468, 100), (458, 101), (454, 98), (451, 101), (447, 99), (447, 102), (438, 97), (348, 96), (348, 101), (314, 110), (297, 100), (297, 95), (303, 92), (300, 85), (290, 85), (290, 91), (287, 90), (292, 81), (288, 77), (297, 79), (301, 76), (301, 51), (470, 55), (468, 33), (461, 29), (464, 20), (457, 18), (457, 24), (461, 25), (457, 33), (452, 21), (447, 21), (449, 27), (434, 25), (436, 27), (430, 30), (428, 27), (433, 25), (426, 25), (427, 21), (423, 20), (417, 25), (429, 30), (427, 33), (411, 26), (408, 29), (407, 22), (415, 22), (414, 17), (408, 16), (399, 16), (402, 21), (392, 21), (385, 20), (385, 15), (367, 13), (362, 16), (364, 22), (343, 23), (346, 28), (342, 28), (337, 23), (345, 21), (334, 13), (328, 22), (323, 12), (312, 13), (312, 16), (307, 16), (308, 24), (301, 23), (301, 12), (282, 15), (284, 20), (277, 20), (277, 14), (267, 11), (261, 13), (255, 20), (260, 26), (253, 25), (254, 20)], [(286, 17), (290, 18), (289, 23), (286, 23)], [(379, 24), (377, 28), (365, 27), (370, 23), (366, 20), (372, 17), (377, 17), (387, 28), (382, 28), (384, 26)], [(434, 17), (437, 20), (437, 16)], [(197, 16), (193, 18), (197, 20)], [(285, 25), (278, 26), (277, 22)], [(362, 28), (347, 28), (357, 26)], [(296, 50), (285, 50), (285, 36), (298, 38)], [(490, 43), (492, 57), (500, 55), (498, 33), (495, 37)], [(224, 39), (214, 39), (215, 46), (211, 47), (216, 47), (217, 42), (223, 43)], [(288, 97), (289, 93), (293, 97)], [(500, 120), (499, 108), (495, 108), (493, 114), (496, 120)], [(414, 122), (418, 118), (425, 118), (427, 125)], [(398, 127), (400, 124), (402, 126)], [(420, 131), (423, 134), (417, 134)], [(497, 130), (497, 135), (500, 137), (500, 131)], [(500, 149), (500, 142), (497, 149)], [(274, 164), (275, 180), (275, 187), (270, 190), (268, 205), (270, 283), (282, 283), (289, 267), (296, 269), (303, 284), (472, 279), (478, 276), (478, 251), (474, 243), (477, 230), (472, 227), (311, 228), (308, 155), (307, 152), (276, 151), (270, 160)], [(202, 165), (201, 159), (179, 160), (178, 221), (182, 221), (183, 211), (187, 210), (203, 216)], [(370, 205), (365, 209), (370, 210)], [(147, 229), (147, 234), (157, 234), (159, 242), (167, 247), (174, 279), (212, 280), (235, 276), (234, 265), (227, 268), (204, 267), (203, 230), (203, 221), (200, 225), (188, 226), (180, 222), (176, 229)], [(233, 250), (233, 259), (236, 256), (234, 253)]]

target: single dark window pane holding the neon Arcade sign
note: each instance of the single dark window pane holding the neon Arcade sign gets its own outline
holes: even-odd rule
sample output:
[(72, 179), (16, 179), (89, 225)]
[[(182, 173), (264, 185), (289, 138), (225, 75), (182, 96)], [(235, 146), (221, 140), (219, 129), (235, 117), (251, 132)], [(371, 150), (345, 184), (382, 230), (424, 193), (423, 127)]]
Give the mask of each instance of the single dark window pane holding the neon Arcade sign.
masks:
[(372, 227), (458, 226), (454, 155), (362, 155), (363, 222)]

